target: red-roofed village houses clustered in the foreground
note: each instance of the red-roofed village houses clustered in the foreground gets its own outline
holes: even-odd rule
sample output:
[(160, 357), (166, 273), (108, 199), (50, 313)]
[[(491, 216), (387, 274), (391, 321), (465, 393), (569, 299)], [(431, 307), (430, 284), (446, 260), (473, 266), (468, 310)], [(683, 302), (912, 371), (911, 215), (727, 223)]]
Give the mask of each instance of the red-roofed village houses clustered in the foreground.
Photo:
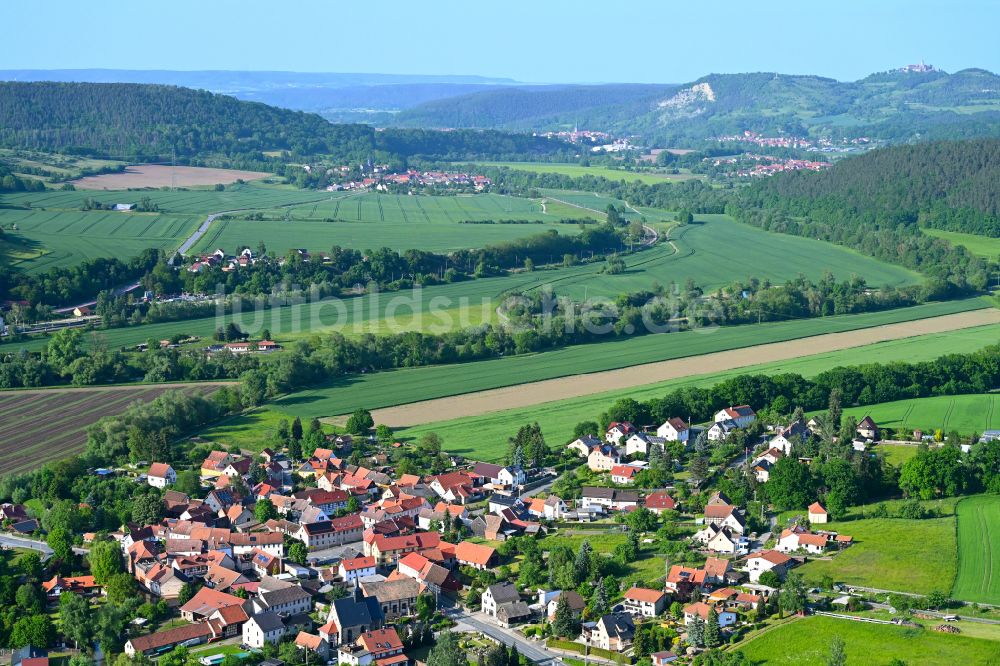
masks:
[[(852, 544), (850, 535), (823, 529), (828, 512), (818, 501), (789, 524), (757, 533), (724, 492), (640, 490), (643, 471), (662, 464), (671, 447), (724, 442), (756, 419), (751, 407), (737, 405), (701, 427), (681, 418), (655, 429), (614, 422), (600, 436), (578, 437), (557, 466), (595, 483), (573, 497), (554, 492), (555, 466), (528, 463), (530, 452), (520, 448), (514, 464), (437, 450), (447, 469), (400, 473), (393, 461), (401, 451), (434, 452), (434, 443), (323, 435), (313, 426), (307, 440), (323, 445), (302, 454), (299, 444), (259, 454), (215, 448), (182, 472), (159, 462), (97, 470), (156, 489), (162, 518), (83, 534), (81, 547), (114, 544), (138, 593), (176, 618), (153, 631), (151, 618), (141, 618), (125, 644), (129, 656), (180, 647), (211, 664), (233, 650), (273, 657), (276, 646), (291, 644), (307, 662), (312, 655), (406, 666), (426, 659), (434, 632), (449, 631), (487, 647), (513, 645), (535, 662), (587, 654), (659, 666), (721, 645), (775, 612), (777, 591), (797, 565)], [(796, 458), (816, 426), (800, 419), (768, 428), (756, 452), (748, 446), (737, 462), (766, 483), (770, 467)], [(866, 418), (855, 448), (878, 438)], [(179, 474), (196, 478), (198, 492), (177, 490)], [(22, 505), (3, 505), (0, 519), (16, 534), (39, 529)], [(622, 584), (615, 562), (640, 557), (662, 529), (675, 535), (674, 556), (643, 552), (660, 565)], [(624, 533), (614, 553), (589, 543), (606, 531)], [(542, 549), (563, 535), (578, 547)], [(100, 599), (108, 581), (93, 573), (48, 580), (48, 603), (66, 594)]]

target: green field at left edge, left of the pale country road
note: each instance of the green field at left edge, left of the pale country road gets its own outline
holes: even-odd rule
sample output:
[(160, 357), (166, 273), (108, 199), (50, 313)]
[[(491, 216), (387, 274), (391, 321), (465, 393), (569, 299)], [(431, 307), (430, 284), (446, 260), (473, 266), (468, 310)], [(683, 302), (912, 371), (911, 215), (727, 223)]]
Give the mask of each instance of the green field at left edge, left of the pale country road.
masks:
[(171, 251), (199, 222), (195, 215), (0, 209), (0, 251), (12, 265), (34, 273), (111, 254), (132, 257), (150, 247)]

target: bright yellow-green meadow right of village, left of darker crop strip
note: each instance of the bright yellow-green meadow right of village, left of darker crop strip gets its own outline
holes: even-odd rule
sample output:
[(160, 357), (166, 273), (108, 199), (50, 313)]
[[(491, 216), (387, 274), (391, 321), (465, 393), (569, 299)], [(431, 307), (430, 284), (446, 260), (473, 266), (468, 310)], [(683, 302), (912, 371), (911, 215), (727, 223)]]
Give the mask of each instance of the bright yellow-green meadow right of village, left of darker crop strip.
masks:
[[(886, 503), (892, 513), (895, 503)], [(854, 537), (854, 544), (829, 559), (810, 559), (798, 568), (807, 579), (829, 575), (835, 582), (927, 594), (949, 592), (958, 570), (955, 500), (925, 503), (942, 517), (926, 520), (861, 518), (827, 525)], [(860, 514), (864, 509), (856, 508)]]

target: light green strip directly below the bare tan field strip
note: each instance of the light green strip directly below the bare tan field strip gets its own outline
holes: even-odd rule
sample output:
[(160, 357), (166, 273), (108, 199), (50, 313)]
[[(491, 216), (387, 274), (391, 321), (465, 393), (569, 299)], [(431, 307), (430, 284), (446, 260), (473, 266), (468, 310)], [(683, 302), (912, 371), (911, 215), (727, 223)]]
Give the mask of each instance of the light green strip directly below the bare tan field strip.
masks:
[(667, 391), (685, 386), (707, 387), (723, 379), (751, 373), (797, 373), (809, 377), (837, 366), (861, 363), (886, 363), (891, 361), (927, 361), (942, 354), (956, 351), (969, 352), (986, 345), (996, 344), (1000, 325), (980, 326), (961, 331), (921, 335), (903, 340), (880, 342), (854, 349), (816, 354), (776, 363), (765, 363), (722, 373), (698, 375), (686, 379), (670, 380), (627, 391), (609, 391), (568, 400), (555, 400), (531, 407), (506, 409), (476, 417), (447, 419), (408, 428), (400, 432), (404, 437), (419, 437), (425, 432), (436, 432), (444, 439), (445, 448), (480, 460), (498, 460), (506, 451), (507, 438), (525, 423), (538, 421), (547, 441), (561, 445), (571, 438), (573, 426), (581, 421), (596, 419), (611, 403), (619, 398), (649, 400)]

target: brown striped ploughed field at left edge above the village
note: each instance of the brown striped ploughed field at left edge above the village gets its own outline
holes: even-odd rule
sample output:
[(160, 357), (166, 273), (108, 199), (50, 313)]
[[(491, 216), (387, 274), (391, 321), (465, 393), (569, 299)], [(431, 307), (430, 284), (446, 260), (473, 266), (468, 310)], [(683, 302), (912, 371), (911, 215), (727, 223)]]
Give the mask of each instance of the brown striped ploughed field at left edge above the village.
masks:
[(24, 472), (83, 450), (87, 427), (133, 402), (173, 389), (208, 393), (218, 384), (0, 392), (0, 475)]

